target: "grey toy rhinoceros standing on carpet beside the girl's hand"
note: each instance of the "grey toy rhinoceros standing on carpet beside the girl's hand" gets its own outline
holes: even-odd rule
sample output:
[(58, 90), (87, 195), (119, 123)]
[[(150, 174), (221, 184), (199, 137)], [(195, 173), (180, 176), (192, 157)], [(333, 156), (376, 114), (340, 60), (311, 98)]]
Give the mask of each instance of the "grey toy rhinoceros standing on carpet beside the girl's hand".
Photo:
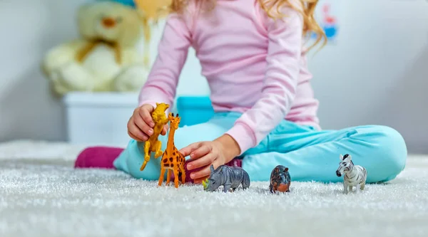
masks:
[(235, 191), (240, 184), (242, 184), (243, 189), (248, 189), (250, 186), (250, 176), (240, 167), (228, 167), (223, 164), (214, 169), (211, 164), (210, 172), (210, 177), (202, 181), (205, 191), (215, 191), (219, 186), (223, 185), (223, 191), (226, 193), (229, 189)]

